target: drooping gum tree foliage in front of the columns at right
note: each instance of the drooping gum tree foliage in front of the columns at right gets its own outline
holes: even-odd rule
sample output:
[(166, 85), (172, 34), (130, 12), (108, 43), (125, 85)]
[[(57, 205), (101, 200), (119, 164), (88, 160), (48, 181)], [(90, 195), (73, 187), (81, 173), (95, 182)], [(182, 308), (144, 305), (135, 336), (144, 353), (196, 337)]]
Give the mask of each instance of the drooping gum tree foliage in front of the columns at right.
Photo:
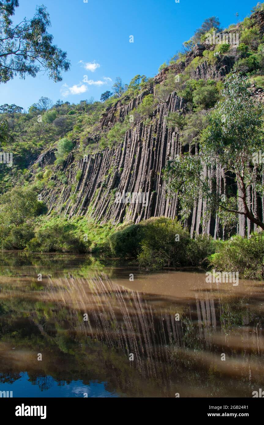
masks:
[[(263, 195), (262, 164), (255, 164), (255, 153), (264, 149), (263, 109), (255, 104), (246, 77), (231, 74), (221, 92), (222, 99), (208, 116), (209, 125), (202, 131), (199, 155), (186, 153), (179, 160), (168, 161), (164, 170), (169, 192), (178, 192), (182, 218), (187, 218), (193, 202), (201, 196), (207, 201), (207, 213), (218, 213), (223, 224), (234, 224), (238, 215), (264, 229), (257, 212), (251, 212), (247, 190)], [(212, 190), (207, 170), (221, 164), (238, 190), (226, 197)]]

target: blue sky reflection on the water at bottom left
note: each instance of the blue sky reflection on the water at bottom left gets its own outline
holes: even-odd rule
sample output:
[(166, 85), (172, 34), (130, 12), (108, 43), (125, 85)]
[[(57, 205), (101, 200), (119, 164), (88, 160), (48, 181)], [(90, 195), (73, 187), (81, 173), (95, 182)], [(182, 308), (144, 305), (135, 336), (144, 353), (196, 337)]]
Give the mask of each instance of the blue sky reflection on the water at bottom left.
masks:
[(26, 372), (21, 373), (21, 378), (12, 384), (0, 383), (0, 391), (13, 391), (14, 397), (119, 397), (116, 393), (111, 393), (105, 389), (105, 382), (90, 382), (90, 385), (84, 385), (81, 380), (72, 381), (69, 384), (65, 382), (56, 382), (52, 377), (45, 377), (49, 380), (50, 387), (41, 391), (38, 385), (32, 384), (28, 380)]

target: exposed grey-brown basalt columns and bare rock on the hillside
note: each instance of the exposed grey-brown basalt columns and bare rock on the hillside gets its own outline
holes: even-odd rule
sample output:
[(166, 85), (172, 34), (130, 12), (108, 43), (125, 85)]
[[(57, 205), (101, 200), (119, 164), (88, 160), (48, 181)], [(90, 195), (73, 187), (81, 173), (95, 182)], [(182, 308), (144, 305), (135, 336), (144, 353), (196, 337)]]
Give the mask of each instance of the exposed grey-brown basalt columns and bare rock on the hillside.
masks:
[[(207, 45), (196, 45), (185, 62), (172, 65), (176, 73), (182, 70), (196, 56), (201, 56)], [(230, 49), (230, 54), (217, 58), (216, 65), (209, 65), (204, 62), (196, 71), (193, 78), (215, 78), (221, 79), (230, 72), (236, 59), (236, 52)], [(155, 85), (165, 79), (168, 68), (162, 70), (154, 79)], [(121, 102), (108, 108), (99, 123), (99, 130), (111, 127), (115, 122), (123, 120), (133, 108), (136, 108), (144, 96), (153, 91), (146, 91), (141, 96), (133, 99), (127, 105)], [(255, 93), (262, 99), (262, 92)], [(167, 159), (174, 159), (179, 153), (190, 151), (197, 153), (197, 145), (182, 146), (181, 138), (176, 132), (176, 128), (167, 129), (166, 117), (170, 111), (185, 111), (185, 100), (179, 98), (176, 92), (170, 94), (167, 102), (158, 105), (154, 111), (154, 124), (144, 125), (138, 122), (133, 129), (125, 134), (125, 139), (119, 146), (113, 149), (105, 149), (102, 153), (89, 155), (77, 161), (74, 159), (74, 152), (65, 161), (62, 170), (68, 179), (68, 184), (62, 184), (56, 174), (52, 176), (55, 187), (44, 190), (43, 200), (48, 205), (48, 210), (68, 215), (87, 216), (104, 222), (111, 220), (113, 224), (119, 222), (133, 221), (138, 223), (143, 219), (164, 215), (175, 218), (179, 214), (177, 196), (166, 198), (166, 187), (162, 179), (162, 169)], [(116, 113), (118, 112), (118, 113)], [(54, 152), (49, 151), (38, 159), (40, 165), (54, 162)], [(82, 170), (82, 177), (77, 181), (77, 170)], [(229, 181), (224, 177), (223, 170), (217, 167), (216, 170), (204, 170), (204, 173), (214, 178), (216, 185), (212, 190), (218, 193), (226, 193)], [(76, 184), (74, 192), (71, 185)], [(140, 202), (123, 203), (116, 202), (117, 193), (146, 193), (148, 202), (146, 205)], [(252, 202), (252, 208), (262, 211), (264, 199), (259, 200), (256, 193), (249, 191), (248, 200)], [(221, 229), (218, 217), (210, 217), (205, 220), (203, 212), (206, 210), (206, 203), (202, 199), (194, 200), (194, 207), (189, 221), (185, 226), (193, 232), (210, 233), (214, 238), (225, 237), (226, 230)], [(244, 217), (239, 218), (236, 232), (240, 235), (249, 234), (252, 226)]]

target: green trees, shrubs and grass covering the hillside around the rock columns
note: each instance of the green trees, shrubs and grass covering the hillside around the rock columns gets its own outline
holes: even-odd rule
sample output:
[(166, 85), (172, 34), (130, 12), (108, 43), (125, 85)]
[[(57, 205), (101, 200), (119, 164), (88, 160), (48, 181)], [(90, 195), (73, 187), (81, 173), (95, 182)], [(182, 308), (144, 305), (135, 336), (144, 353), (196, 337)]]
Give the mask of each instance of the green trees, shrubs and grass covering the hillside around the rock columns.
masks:
[[(238, 34), (239, 44), (208, 44), (208, 37), (218, 32)], [(194, 233), (194, 238), (191, 238), (186, 220), (190, 217), (193, 200), (202, 195), (207, 199), (208, 211), (218, 214), (222, 225), (230, 228), (232, 233), (238, 220), (237, 190), (232, 186), (233, 189), (227, 193), (228, 202), (221, 203), (216, 197), (210, 197), (209, 180), (205, 179), (199, 186), (202, 166), (198, 159), (204, 151), (210, 152), (217, 160), (221, 159), (221, 164), (227, 164), (227, 170), (236, 175), (236, 182), (243, 174), (246, 184), (255, 185), (258, 196), (264, 196), (262, 164), (251, 169), (247, 159), (243, 159), (245, 168), (237, 167), (236, 157), (240, 155), (241, 143), (234, 136), (236, 132), (247, 135), (247, 155), (262, 149), (263, 107), (258, 94), (263, 89), (264, 11), (263, 4), (259, 3), (250, 17), (227, 29), (222, 29), (215, 17), (205, 20), (193, 37), (183, 43), (182, 51), (161, 65), (156, 77), (136, 75), (129, 84), (124, 84), (117, 77), (112, 92), (103, 93), (100, 102), (91, 98), (75, 105), (58, 100), (52, 105), (50, 99), (43, 96), (38, 101), (36, 99), (28, 111), (17, 105), (0, 106), (1, 150), (12, 153), (13, 161), (10, 167), (0, 164), (2, 249), (96, 252), (136, 258), (147, 269), (208, 266), (210, 262), (216, 268), (226, 266), (223, 258), (227, 251), (236, 246), (236, 252), (240, 249), (244, 252), (243, 244), (248, 242), (239, 239), (236, 244), (225, 247), (224, 242), (213, 241), (207, 235)], [(47, 191), (52, 191), (56, 182), (60, 182), (63, 190), (71, 192), (73, 204), (77, 201), (77, 188), (82, 181), (82, 169), (77, 165), (80, 159), (118, 147), (139, 123), (154, 127), (161, 105), (166, 104), (172, 93), (183, 99), (184, 106), (167, 113), (166, 128), (179, 135), (183, 149), (190, 147), (186, 154), (191, 152), (192, 146), (196, 153), (200, 153), (182, 156), (182, 161), (168, 161), (163, 170), (168, 194), (179, 193), (182, 209), (178, 220), (160, 217), (138, 224), (113, 224), (111, 221), (100, 222), (89, 214), (70, 217), (66, 213), (58, 215), (54, 210), (48, 211), (43, 198)], [(252, 93), (257, 95), (251, 96)], [(240, 101), (236, 105), (235, 98), (244, 99), (244, 103)], [(227, 111), (230, 105), (233, 106), (229, 117), (223, 111)], [(244, 116), (239, 111), (242, 107)], [(224, 147), (221, 152), (220, 147), (222, 150)], [(232, 164), (224, 162), (227, 147), (233, 149)], [(230, 159), (230, 150), (228, 155)], [(74, 181), (68, 181), (65, 175), (65, 164), (68, 164), (69, 158), (73, 167), (77, 168)], [(108, 170), (109, 175), (114, 172)], [(186, 185), (182, 193), (177, 186), (180, 178)], [(192, 186), (194, 181), (197, 183)], [(112, 195), (115, 193), (112, 192)], [(251, 211), (249, 214), (247, 218), (258, 227), (257, 230), (263, 229), (263, 218)], [(176, 235), (179, 235), (179, 244), (176, 243)], [(262, 241), (262, 234), (256, 235), (250, 244)], [(264, 252), (261, 255), (264, 257)], [(244, 263), (243, 267), (247, 269)], [(245, 272), (245, 275), (259, 278), (263, 276), (261, 270), (256, 272), (256, 276), (253, 272)]]

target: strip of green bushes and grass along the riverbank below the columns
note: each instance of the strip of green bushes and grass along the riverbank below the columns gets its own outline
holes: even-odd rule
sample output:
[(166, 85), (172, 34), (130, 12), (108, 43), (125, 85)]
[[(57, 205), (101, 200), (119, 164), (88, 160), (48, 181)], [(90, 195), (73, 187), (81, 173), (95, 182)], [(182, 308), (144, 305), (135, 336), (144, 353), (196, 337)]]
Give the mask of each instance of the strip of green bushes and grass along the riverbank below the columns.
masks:
[[(264, 232), (252, 233), (249, 239), (233, 236), (227, 241), (209, 235), (191, 238), (179, 221), (165, 217), (114, 225), (85, 217), (40, 215), (23, 226), (2, 226), (3, 249), (92, 253), (111, 261), (127, 259), (150, 272), (198, 267), (238, 272), (240, 278), (264, 278)], [(26, 232), (28, 228), (31, 230)]]

